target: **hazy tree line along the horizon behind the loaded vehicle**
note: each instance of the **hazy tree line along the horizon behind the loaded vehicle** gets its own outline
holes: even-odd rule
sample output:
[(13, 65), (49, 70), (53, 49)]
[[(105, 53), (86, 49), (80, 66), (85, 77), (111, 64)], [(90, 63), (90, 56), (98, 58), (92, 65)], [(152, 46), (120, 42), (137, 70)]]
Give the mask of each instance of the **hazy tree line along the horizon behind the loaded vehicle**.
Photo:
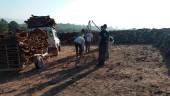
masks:
[[(80, 32), (83, 28), (87, 28), (87, 25), (75, 25), (75, 24), (63, 24), (59, 23), (55, 26), (56, 30), (59, 32)], [(16, 32), (17, 30), (27, 31), (26, 24), (18, 24), (16, 21), (7, 22), (5, 19), (0, 19), (0, 33), (5, 32)], [(92, 27), (96, 30), (95, 27)]]

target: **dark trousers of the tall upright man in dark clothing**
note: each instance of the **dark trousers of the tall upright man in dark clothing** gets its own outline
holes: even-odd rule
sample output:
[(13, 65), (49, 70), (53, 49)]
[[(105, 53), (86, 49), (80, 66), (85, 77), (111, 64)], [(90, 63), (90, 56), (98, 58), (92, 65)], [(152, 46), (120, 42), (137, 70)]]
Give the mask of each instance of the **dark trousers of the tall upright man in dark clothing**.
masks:
[(105, 61), (109, 58), (108, 44), (99, 44), (99, 64), (104, 65)]

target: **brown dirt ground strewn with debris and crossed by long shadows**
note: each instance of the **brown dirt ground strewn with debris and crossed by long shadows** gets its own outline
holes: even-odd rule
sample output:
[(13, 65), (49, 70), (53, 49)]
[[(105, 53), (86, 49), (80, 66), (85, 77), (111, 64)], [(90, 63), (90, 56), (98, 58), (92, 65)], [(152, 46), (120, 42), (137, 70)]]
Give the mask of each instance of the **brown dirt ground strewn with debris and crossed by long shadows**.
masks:
[(168, 62), (151, 45), (112, 46), (102, 68), (96, 47), (80, 62), (73, 46), (61, 49), (44, 69), (0, 73), (0, 96), (170, 96)]

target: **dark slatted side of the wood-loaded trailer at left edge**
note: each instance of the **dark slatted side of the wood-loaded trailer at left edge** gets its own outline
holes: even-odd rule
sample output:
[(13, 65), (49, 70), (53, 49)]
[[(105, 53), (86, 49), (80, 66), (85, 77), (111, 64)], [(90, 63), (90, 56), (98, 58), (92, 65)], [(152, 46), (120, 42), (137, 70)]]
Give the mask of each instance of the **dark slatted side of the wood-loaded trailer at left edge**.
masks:
[(16, 38), (11, 33), (0, 34), (0, 70), (21, 67)]

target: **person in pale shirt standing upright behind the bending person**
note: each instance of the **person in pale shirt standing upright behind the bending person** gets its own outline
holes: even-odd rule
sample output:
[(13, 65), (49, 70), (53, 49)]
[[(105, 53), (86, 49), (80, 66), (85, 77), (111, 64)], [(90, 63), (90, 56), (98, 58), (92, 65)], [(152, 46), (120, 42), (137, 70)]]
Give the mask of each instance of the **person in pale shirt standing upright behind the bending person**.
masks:
[(85, 47), (86, 47), (86, 53), (90, 52), (90, 45), (93, 40), (93, 34), (91, 32), (87, 32), (84, 35), (85, 38)]

